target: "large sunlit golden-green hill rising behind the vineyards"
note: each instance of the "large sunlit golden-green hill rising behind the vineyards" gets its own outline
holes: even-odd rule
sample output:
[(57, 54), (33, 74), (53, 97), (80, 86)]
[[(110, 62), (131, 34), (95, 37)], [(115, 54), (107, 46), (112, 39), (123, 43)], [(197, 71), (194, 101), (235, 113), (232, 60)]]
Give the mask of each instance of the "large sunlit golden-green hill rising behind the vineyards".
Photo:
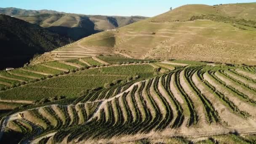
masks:
[(255, 65), (255, 9), (256, 3), (184, 5), (79, 43), (140, 59)]

